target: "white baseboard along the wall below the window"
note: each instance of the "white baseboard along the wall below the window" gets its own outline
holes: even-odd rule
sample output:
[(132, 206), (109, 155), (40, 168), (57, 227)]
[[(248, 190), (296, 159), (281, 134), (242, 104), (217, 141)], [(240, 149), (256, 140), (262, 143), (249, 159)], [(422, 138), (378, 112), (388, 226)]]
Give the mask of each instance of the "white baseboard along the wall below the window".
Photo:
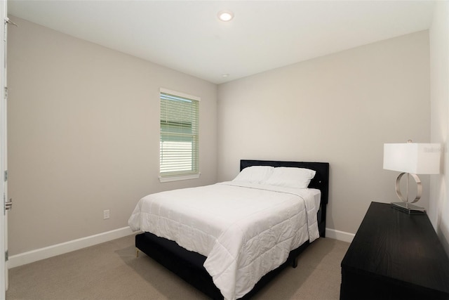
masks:
[(61, 244), (53, 244), (41, 249), (35, 249), (29, 252), (11, 255), (9, 256), (7, 262), (8, 268), (22, 266), (34, 261), (40, 261), (41, 259), (48, 259), (51, 256), (57, 256), (82, 248), (91, 247), (95, 244), (101, 244), (102, 242), (108, 242), (110, 240), (115, 240), (131, 234), (133, 234), (133, 231), (128, 226), (116, 230), (107, 231), (106, 233), (98, 233), (97, 235), (82, 237), (77, 240), (71, 240), (68, 242), (63, 242)]

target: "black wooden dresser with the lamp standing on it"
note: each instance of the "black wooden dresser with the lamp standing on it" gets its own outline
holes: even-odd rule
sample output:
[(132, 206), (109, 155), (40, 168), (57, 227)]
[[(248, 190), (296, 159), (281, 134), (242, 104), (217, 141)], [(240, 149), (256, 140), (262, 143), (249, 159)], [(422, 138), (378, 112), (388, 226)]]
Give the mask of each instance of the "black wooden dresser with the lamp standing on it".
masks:
[(427, 214), (371, 202), (342, 260), (340, 299), (449, 299), (449, 258)]

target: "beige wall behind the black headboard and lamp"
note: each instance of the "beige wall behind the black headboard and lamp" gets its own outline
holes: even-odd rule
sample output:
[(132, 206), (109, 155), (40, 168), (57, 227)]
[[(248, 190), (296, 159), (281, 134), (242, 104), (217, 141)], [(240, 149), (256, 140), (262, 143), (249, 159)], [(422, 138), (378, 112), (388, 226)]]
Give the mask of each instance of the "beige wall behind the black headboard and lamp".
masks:
[(218, 112), (219, 181), (236, 176), (242, 158), (330, 162), (327, 227), (356, 233), (371, 201), (397, 200), (383, 144), (430, 140), (429, 34), (222, 84)]

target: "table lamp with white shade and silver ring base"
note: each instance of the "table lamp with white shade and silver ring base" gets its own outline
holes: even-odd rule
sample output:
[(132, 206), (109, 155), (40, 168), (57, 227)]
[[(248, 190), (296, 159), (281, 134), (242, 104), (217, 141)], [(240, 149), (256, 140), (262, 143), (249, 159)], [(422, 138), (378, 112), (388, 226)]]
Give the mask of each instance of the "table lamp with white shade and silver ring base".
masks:
[[(440, 174), (441, 145), (431, 143), (394, 143), (384, 144), (384, 169), (400, 171), (396, 178), (396, 195), (402, 202), (391, 202), (394, 208), (412, 213), (424, 213), (425, 209), (412, 203), (420, 200), (422, 184), (417, 174)], [(406, 197), (401, 193), (401, 178), (407, 175)], [(410, 176), (416, 181), (415, 200), (408, 199), (408, 181)]]

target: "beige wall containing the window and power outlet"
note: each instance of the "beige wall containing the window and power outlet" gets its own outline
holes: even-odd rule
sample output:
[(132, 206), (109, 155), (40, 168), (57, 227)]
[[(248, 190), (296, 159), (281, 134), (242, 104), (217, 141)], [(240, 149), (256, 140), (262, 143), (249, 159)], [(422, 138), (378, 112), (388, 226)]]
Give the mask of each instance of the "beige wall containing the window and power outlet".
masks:
[[(216, 182), (215, 84), (11, 19), (10, 255), (128, 226), (148, 193)], [(199, 180), (159, 183), (160, 87), (201, 97)]]

